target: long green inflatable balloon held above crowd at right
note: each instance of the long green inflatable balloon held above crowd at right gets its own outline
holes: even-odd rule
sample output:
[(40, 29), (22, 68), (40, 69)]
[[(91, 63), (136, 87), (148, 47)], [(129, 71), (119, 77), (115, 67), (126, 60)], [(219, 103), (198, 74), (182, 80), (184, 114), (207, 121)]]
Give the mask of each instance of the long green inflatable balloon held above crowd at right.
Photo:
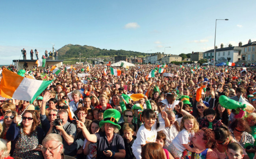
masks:
[(242, 104), (241, 102), (236, 102), (235, 100), (232, 100), (224, 95), (221, 95), (219, 97), (219, 104), (221, 104), (221, 106), (223, 106), (226, 109), (236, 109), (236, 108), (246, 107), (245, 104)]

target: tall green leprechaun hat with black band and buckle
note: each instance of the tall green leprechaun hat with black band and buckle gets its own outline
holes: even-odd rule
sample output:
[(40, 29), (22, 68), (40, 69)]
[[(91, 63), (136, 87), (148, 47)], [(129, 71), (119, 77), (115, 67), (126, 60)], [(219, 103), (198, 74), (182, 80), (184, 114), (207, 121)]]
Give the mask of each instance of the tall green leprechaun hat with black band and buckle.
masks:
[(121, 126), (117, 124), (119, 121), (121, 114), (117, 109), (107, 109), (103, 113), (104, 120), (100, 121), (100, 127), (102, 127), (105, 123), (110, 123), (115, 125), (119, 130)]

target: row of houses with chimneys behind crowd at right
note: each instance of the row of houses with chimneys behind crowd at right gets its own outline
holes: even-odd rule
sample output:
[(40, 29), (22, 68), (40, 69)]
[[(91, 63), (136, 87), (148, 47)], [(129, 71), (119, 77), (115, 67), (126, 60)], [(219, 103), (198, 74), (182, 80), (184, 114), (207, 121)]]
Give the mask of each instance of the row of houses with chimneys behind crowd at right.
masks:
[[(239, 42), (238, 46), (232, 46), (229, 44), (228, 47), (218, 48), (215, 46), (215, 64), (218, 63), (255, 63), (256, 62), (256, 41), (252, 42), (250, 39), (247, 44), (243, 45)], [(212, 62), (214, 59), (214, 49), (206, 52), (192, 52), (191, 61), (199, 61), (200, 59), (207, 59), (208, 62)]]

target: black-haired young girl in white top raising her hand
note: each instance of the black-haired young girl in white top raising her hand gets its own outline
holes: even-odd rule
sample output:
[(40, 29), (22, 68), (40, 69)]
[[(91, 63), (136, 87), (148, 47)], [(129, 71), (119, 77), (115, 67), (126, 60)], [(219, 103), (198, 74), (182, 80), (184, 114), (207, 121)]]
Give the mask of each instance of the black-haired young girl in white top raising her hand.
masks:
[(170, 125), (164, 111), (157, 118), (152, 109), (145, 109), (141, 114), (141, 119), (144, 124), (139, 127), (137, 138), (132, 144), (132, 152), (136, 159), (141, 159), (141, 147), (148, 142), (156, 142), (157, 131), (161, 131)]

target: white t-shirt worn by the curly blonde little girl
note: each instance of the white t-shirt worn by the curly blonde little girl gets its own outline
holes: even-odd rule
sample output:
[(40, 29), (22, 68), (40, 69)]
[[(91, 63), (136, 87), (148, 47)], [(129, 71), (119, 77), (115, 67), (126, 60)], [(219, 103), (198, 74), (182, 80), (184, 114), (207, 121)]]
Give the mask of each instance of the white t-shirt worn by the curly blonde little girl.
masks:
[(178, 135), (173, 139), (173, 145), (177, 150), (183, 152), (186, 148), (182, 144), (190, 144), (192, 137), (194, 137), (195, 133), (191, 131), (189, 133), (186, 129), (183, 129), (178, 133)]

